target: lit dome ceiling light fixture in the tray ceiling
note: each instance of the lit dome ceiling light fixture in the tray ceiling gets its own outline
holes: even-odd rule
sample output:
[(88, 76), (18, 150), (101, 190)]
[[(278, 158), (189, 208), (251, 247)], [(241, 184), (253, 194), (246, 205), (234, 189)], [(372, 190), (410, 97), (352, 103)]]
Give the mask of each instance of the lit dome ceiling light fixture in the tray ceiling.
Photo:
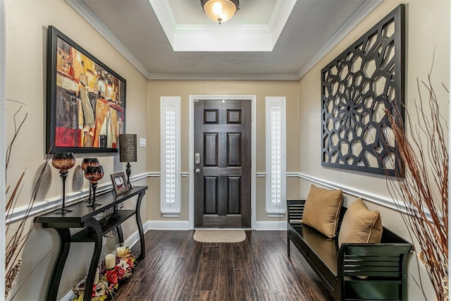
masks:
[(230, 20), (240, 8), (239, 0), (200, 0), (200, 4), (206, 16), (219, 24)]

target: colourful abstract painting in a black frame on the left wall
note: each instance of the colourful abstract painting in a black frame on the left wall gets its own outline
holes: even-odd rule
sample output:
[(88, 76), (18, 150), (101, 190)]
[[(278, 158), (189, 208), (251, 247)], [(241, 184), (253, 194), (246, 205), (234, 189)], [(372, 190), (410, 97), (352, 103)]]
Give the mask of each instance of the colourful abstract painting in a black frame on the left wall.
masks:
[(51, 25), (47, 46), (47, 152), (118, 152), (126, 80)]

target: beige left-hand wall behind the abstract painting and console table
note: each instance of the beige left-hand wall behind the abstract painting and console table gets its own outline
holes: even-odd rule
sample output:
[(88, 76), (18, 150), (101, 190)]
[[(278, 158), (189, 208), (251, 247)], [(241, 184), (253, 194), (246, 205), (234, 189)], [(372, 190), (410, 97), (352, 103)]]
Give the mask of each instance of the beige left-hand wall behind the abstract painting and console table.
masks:
[[(47, 56), (47, 26), (54, 25), (65, 35), (85, 48), (93, 56), (115, 70), (127, 80), (128, 133), (138, 137), (147, 137), (147, 78), (136, 70), (109, 42), (99, 35), (64, 0), (49, 1), (6, 1), (6, 141), (11, 141), (13, 133), (13, 113), (23, 103), (20, 116), (28, 114), (25, 124), (11, 152), (8, 166), (8, 183), (16, 183), (25, 169), (25, 180), (20, 192), (18, 207), (27, 204), (32, 192), (32, 183), (40, 166), (44, 164), (44, 110), (45, 78)], [(118, 160), (118, 154), (91, 154), (98, 156), (104, 166), (105, 176), (99, 185), (111, 183), (109, 175), (125, 171), (124, 164)], [(78, 164), (83, 156), (75, 154)], [(132, 175), (147, 171), (146, 148), (138, 152), (139, 163), (132, 163)], [(73, 170), (68, 174), (66, 192), (73, 192)], [(85, 191), (87, 181), (83, 181)], [(147, 180), (141, 180), (146, 185)], [(61, 179), (58, 171), (49, 167), (44, 178), (37, 202), (61, 196)], [(132, 206), (128, 204), (127, 206)], [(143, 201), (142, 219), (147, 220), (146, 200)], [(134, 232), (132, 219), (123, 227), (125, 238)], [(20, 288), (15, 300), (44, 300), (47, 292), (49, 273), (56, 259), (58, 236), (56, 231), (36, 226), (27, 240), (23, 252), (23, 266), (20, 270), (17, 288)], [(92, 244), (75, 244), (70, 248), (66, 269), (61, 278), (60, 294), (63, 297), (72, 286), (85, 276), (89, 259), (92, 256)]]

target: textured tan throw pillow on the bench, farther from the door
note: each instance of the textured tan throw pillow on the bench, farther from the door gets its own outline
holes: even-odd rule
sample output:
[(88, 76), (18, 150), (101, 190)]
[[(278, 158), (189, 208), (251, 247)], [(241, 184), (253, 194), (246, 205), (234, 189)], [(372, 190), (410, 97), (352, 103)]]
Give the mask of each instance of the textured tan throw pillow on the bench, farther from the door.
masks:
[(379, 211), (369, 211), (359, 197), (347, 208), (338, 234), (338, 245), (350, 243), (379, 243), (382, 221)]

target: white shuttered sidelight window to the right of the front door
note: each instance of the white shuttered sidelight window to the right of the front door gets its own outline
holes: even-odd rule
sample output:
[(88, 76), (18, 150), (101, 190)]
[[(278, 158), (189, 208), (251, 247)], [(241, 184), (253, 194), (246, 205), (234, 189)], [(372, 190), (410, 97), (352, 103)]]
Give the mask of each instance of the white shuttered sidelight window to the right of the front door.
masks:
[(266, 97), (266, 212), (285, 214), (285, 97)]

